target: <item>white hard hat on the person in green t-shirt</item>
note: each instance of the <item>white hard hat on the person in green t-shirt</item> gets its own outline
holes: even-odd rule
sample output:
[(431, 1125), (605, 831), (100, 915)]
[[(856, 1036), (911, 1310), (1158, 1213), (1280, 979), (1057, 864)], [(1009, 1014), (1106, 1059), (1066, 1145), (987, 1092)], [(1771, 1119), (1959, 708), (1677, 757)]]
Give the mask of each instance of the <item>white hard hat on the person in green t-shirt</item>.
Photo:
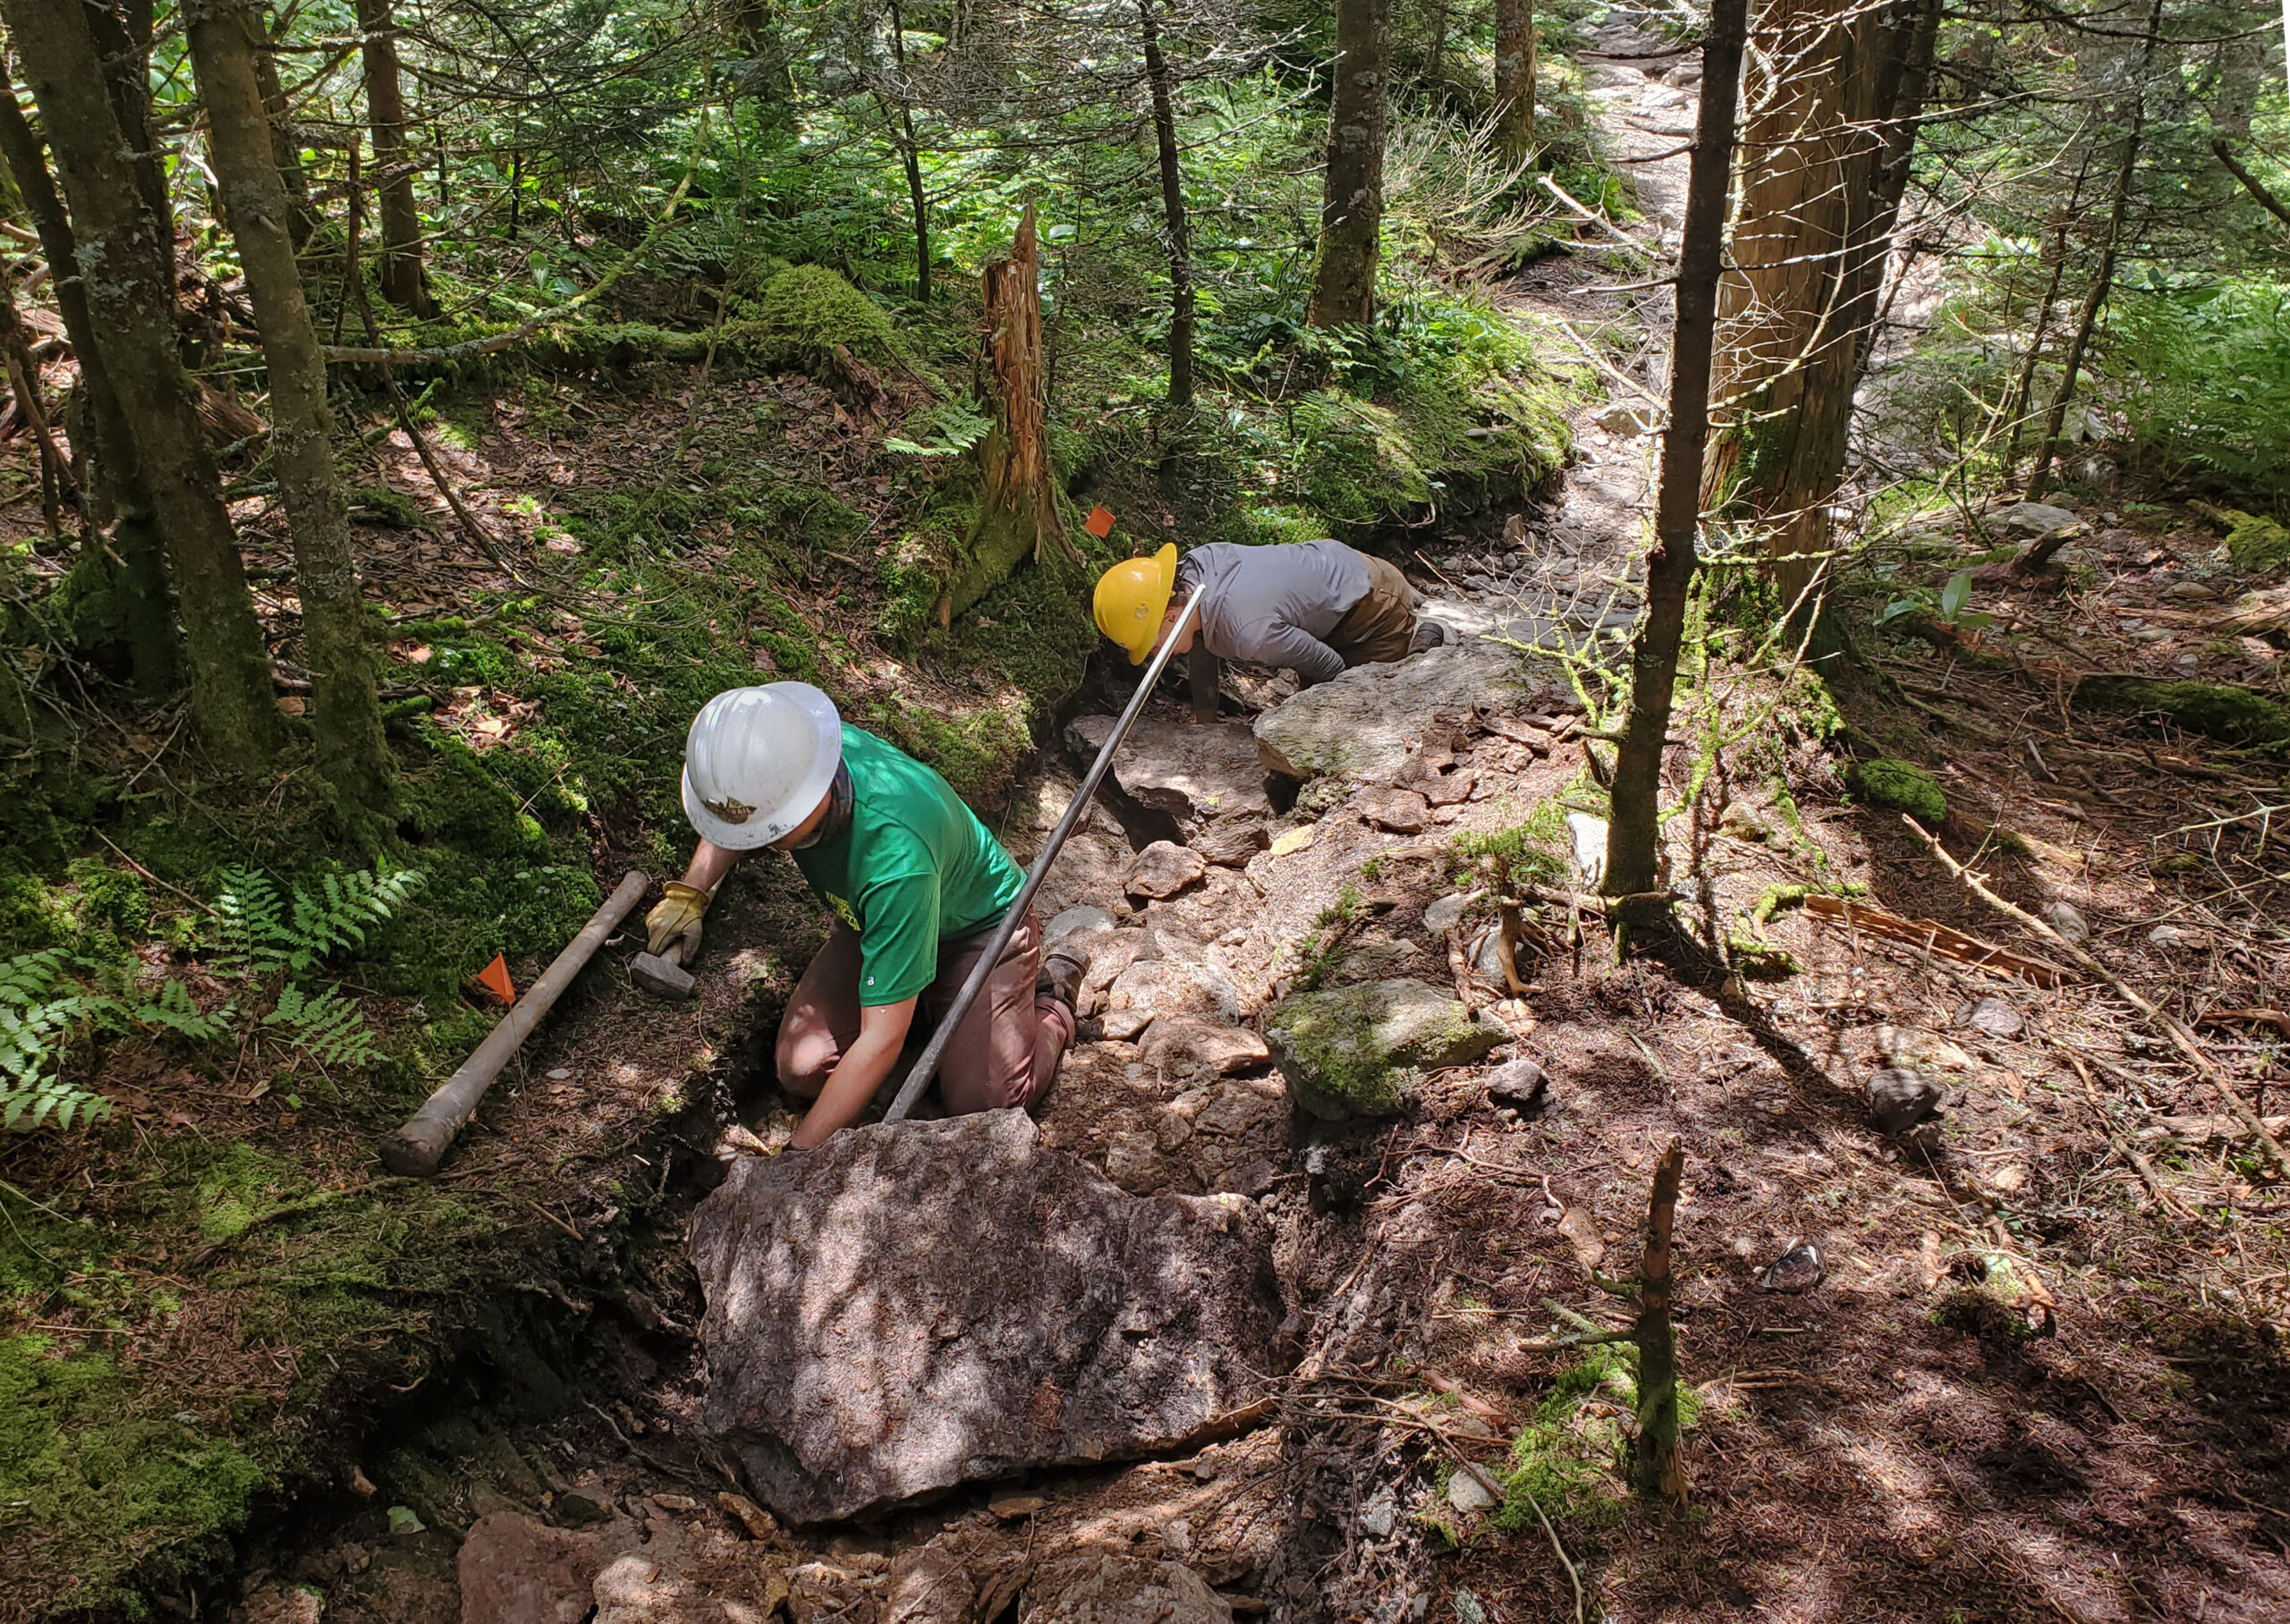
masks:
[(827, 797), (843, 719), (811, 683), (717, 694), (685, 735), (685, 815), (703, 841), (749, 852), (779, 841)]

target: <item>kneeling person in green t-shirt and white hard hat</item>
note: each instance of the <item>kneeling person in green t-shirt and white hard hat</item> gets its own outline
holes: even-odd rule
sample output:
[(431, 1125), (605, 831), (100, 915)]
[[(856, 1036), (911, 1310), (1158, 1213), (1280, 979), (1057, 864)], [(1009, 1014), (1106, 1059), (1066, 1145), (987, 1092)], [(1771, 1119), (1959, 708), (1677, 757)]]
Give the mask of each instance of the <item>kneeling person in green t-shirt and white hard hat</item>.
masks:
[[(689, 960), (724, 875), (763, 845), (790, 852), (836, 914), (779, 1024), (779, 1083), (813, 1102), (792, 1141), (808, 1150), (859, 1120), (916, 1012), (934, 1026), (953, 1006), (1024, 875), (946, 779), (808, 683), (710, 699), (685, 738), (682, 797), (701, 843), (643, 921), (653, 953), (682, 939)], [(1085, 969), (1079, 948), (1044, 955), (1026, 909), (939, 1063), (950, 1113), (1049, 1090)]]

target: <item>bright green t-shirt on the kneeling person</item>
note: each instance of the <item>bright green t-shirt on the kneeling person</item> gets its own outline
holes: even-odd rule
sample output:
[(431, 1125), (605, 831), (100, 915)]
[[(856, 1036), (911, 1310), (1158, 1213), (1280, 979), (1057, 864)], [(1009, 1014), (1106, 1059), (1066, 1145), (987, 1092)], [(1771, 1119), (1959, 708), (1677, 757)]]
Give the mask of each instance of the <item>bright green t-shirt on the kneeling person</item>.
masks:
[(859, 932), (859, 1003), (905, 1003), (939, 978), (939, 944), (994, 925), (1026, 875), (978, 813), (914, 756), (843, 724), (852, 822), (792, 852), (804, 880)]

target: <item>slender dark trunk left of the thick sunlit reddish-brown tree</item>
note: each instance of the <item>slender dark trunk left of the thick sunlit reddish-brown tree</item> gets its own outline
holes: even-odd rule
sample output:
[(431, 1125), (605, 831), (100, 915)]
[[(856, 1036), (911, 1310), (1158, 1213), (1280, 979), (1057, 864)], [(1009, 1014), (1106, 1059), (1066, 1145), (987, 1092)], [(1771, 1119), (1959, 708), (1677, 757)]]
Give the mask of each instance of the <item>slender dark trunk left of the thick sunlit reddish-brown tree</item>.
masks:
[(1685, 593), (1699, 557), (1701, 456), (1711, 431), (1711, 364), (1718, 344), (1718, 277), (1724, 268), (1727, 183), (1734, 172), (1734, 110), (1740, 94), (1750, 0), (1715, 0), (1701, 37), (1701, 110), (1685, 176), (1679, 241), (1679, 305), (1672, 328), (1669, 428), (1647, 554), (1647, 616), (1630, 648), (1630, 719), (1614, 754), (1612, 820), (1605, 834), (1605, 893), (1644, 896), (1658, 886), (1658, 809), (1669, 694), (1685, 639)]

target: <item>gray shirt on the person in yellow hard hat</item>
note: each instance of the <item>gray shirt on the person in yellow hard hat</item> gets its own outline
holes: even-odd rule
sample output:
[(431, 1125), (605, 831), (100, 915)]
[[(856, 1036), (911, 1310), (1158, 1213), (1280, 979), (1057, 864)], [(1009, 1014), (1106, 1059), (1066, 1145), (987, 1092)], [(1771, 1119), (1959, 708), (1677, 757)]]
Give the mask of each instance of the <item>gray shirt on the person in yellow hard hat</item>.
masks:
[(1342, 676), (1321, 639), (1367, 596), (1367, 559), (1340, 541), (1239, 547), (1211, 541), (1177, 563), (1177, 600), (1200, 598), (1200, 641), (1221, 660), (1287, 667), (1305, 687)]

